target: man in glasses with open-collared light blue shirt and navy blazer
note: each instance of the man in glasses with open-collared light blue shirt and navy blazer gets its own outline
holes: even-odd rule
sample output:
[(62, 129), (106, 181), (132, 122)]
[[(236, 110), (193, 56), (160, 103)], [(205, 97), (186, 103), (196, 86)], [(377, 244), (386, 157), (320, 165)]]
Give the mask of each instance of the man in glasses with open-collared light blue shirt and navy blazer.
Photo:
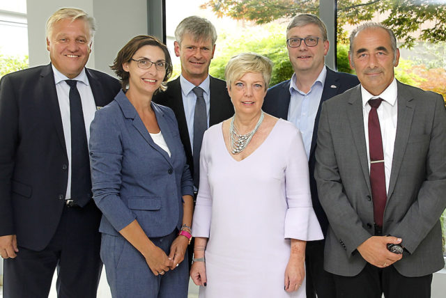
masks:
[[(321, 104), (359, 84), (357, 78), (334, 72), (325, 66), (328, 52), (327, 29), (315, 15), (294, 17), (286, 29), (286, 44), (294, 74), (268, 90), (263, 111), (294, 123), (302, 132), (305, 151), (309, 159), (309, 179), (313, 208), (324, 235), (327, 233), (327, 216), (318, 200), (314, 180), (314, 150)], [(324, 240), (307, 242), (305, 266), (307, 297), (334, 297), (331, 274), (323, 269)]]

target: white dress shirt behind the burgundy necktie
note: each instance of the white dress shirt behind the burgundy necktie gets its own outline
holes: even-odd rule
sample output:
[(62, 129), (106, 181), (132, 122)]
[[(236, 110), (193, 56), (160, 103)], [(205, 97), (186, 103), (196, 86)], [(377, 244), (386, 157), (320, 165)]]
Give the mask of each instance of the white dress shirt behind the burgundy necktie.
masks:
[(385, 88), (380, 95), (374, 96), (365, 90), (361, 85), (362, 95), (362, 114), (364, 115), (364, 132), (365, 143), (367, 147), (367, 159), (369, 162), (370, 173), (370, 153), (369, 153), (369, 112), (371, 110), (369, 100), (382, 98), (380, 106), (376, 110), (378, 113), (379, 125), (381, 130), (381, 138), (383, 139), (384, 152), (384, 171), (385, 171), (385, 189), (389, 191), (390, 173), (392, 171), (393, 150), (395, 144), (395, 136), (397, 136), (397, 118), (398, 118), (398, 102), (397, 102), (397, 80), (393, 79), (392, 83)]

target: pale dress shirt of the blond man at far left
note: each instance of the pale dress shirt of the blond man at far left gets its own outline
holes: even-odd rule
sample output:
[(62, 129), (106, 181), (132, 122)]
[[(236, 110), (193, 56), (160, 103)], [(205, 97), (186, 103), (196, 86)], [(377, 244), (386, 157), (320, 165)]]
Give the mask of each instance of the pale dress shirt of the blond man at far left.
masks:
[[(71, 196), (71, 125), (70, 125), (70, 86), (66, 83), (69, 79), (51, 65), (54, 72), (54, 83), (56, 84), (57, 99), (59, 100), (59, 109), (61, 110), (63, 136), (65, 136), (65, 145), (68, 156), (68, 184), (65, 198), (68, 200)], [(93, 121), (96, 111), (96, 104), (91, 92), (89, 79), (86, 77), (85, 68), (74, 78), (77, 80), (77, 91), (81, 95), (82, 111), (84, 113), (84, 123), (87, 142), (90, 139), (90, 124)]]

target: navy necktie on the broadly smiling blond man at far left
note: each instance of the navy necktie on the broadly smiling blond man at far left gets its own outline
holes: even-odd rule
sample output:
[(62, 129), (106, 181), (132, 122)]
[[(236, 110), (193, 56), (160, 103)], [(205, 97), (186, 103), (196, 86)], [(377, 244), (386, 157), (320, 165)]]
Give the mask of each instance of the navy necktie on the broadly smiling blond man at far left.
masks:
[(70, 86), (71, 127), (71, 199), (83, 207), (91, 199), (89, 146), (86, 141), (84, 112), (77, 81), (68, 79)]

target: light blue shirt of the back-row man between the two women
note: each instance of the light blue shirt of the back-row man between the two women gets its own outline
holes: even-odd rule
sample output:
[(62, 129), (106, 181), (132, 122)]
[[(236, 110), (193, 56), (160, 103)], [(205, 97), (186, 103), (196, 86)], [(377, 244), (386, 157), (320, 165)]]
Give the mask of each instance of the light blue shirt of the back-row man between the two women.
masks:
[[(194, 115), (195, 104), (197, 103), (197, 95), (192, 91), (196, 86), (187, 81), (180, 75), (181, 95), (183, 96), (183, 107), (187, 122), (187, 131), (189, 132), (190, 147), (194, 148)], [(209, 109), (210, 109), (210, 79), (209, 75), (199, 85), (203, 89), (204, 102), (206, 103), (206, 116), (209, 127)]]

